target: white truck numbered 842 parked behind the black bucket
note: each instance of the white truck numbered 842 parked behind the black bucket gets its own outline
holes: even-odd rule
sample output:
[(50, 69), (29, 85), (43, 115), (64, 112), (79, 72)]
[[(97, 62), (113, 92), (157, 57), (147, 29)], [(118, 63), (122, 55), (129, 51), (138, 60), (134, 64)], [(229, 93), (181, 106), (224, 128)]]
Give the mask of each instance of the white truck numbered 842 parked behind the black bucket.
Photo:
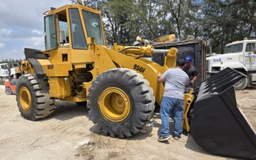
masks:
[(247, 76), (235, 85), (236, 90), (256, 85), (256, 40), (241, 40), (225, 46), (225, 53), (206, 58), (207, 74), (216, 74), (227, 67)]

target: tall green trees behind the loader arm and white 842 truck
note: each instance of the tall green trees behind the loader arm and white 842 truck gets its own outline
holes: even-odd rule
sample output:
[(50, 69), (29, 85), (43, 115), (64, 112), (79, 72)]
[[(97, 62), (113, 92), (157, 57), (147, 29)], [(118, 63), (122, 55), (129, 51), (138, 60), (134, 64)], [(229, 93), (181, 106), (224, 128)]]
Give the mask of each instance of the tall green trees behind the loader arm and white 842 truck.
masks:
[(205, 40), (213, 52), (226, 44), (255, 37), (256, 2), (253, 0), (93, 0), (100, 6), (108, 44), (132, 45), (136, 36), (154, 40), (175, 34)]

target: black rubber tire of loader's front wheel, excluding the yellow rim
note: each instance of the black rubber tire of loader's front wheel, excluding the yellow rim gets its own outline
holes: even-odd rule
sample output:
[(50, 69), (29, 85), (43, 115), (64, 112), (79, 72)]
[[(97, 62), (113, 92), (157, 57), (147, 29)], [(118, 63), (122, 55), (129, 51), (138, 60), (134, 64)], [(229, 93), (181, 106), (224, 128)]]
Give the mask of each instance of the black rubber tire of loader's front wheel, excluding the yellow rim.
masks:
[[(124, 91), (131, 102), (129, 115), (121, 122), (106, 118), (98, 102), (102, 92), (113, 87)], [(90, 120), (98, 124), (106, 136), (131, 137), (147, 125), (154, 113), (155, 97), (148, 81), (141, 74), (126, 68), (115, 68), (97, 76), (89, 88), (87, 98)]]

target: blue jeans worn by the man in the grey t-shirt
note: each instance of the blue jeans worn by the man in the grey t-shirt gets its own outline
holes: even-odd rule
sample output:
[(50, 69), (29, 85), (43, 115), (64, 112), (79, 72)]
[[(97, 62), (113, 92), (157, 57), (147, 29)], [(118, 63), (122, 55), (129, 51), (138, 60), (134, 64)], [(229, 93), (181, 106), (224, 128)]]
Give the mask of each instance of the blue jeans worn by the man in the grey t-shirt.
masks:
[(175, 99), (171, 97), (163, 97), (161, 102), (161, 109), (160, 109), (161, 120), (162, 120), (161, 136), (163, 137), (170, 136), (170, 132), (169, 132), (170, 113), (172, 113), (173, 120), (174, 120), (173, 134), (175, 136), (180, 136), (180, 134), (182, 133), (184, 100)]

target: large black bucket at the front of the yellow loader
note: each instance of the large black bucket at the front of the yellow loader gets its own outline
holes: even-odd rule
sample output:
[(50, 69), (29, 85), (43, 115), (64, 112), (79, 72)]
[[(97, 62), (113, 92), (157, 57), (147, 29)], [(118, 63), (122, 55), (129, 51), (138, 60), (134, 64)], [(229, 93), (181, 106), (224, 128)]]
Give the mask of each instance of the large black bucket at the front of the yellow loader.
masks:
[(246, 76), (225, 68), (204, 81), (196, 98), (191, 135), (211, 154), (256, 159), (256, 136), (237, 108), (234, 84)]

